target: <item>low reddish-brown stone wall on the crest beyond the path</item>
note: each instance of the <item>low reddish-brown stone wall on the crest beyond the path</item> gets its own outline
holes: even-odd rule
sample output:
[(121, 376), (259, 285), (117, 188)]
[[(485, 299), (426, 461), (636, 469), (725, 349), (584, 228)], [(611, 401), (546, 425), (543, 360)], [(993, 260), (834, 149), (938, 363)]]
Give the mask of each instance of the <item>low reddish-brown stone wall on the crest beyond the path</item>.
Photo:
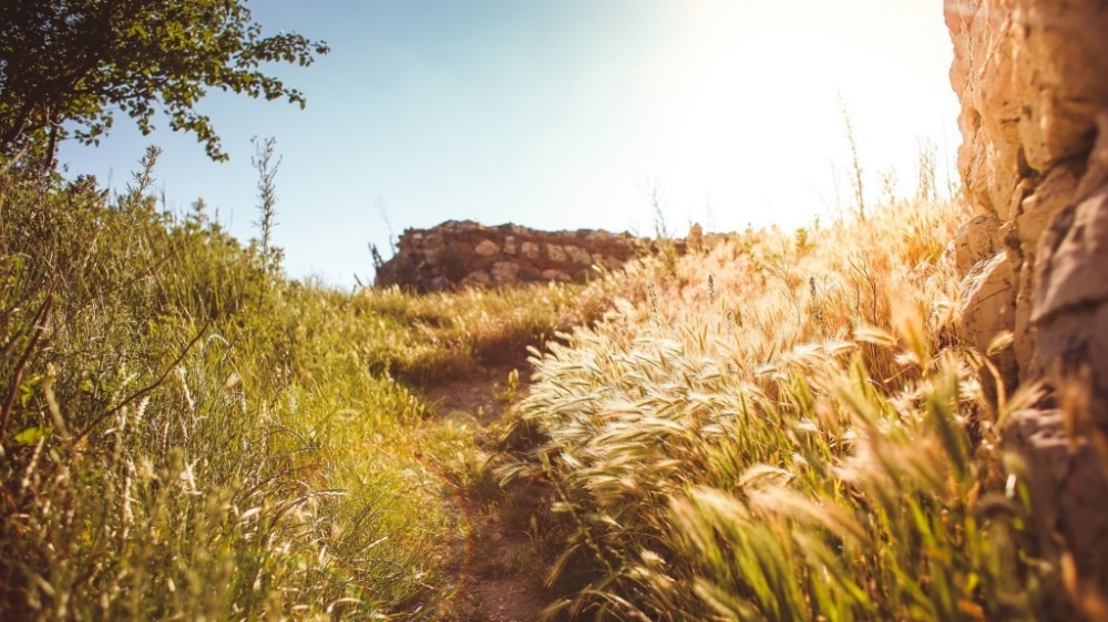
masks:
[(397, 255), (377, 270), (377, 284), (420, 292), (536, 281), (584, 281), (593, 266), (618, 268), (643, 240), (628, 234), (536, 231), (519, 225), (484, 227), (450, 220), (408, 229)]

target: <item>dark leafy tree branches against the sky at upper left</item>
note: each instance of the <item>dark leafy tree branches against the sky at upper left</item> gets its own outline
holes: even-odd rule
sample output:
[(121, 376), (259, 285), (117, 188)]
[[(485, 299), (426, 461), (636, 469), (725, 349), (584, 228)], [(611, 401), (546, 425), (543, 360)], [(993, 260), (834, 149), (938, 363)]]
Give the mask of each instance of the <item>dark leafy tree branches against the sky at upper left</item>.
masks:
[(324, 41), (280, 32), (264, 37), (246, 0), (16, 0), (0, 9), (0, 156), (30, 148), (52, 167), (58, 142), (85, 144), (114, 114), (143, 134), (157, 110), (170, 127), (196, 134), (224, 160), (211, 120), (195, 106), (211, 89), (304, 107), (301, 92), (261, 71), (265, 63), (307, 66)]

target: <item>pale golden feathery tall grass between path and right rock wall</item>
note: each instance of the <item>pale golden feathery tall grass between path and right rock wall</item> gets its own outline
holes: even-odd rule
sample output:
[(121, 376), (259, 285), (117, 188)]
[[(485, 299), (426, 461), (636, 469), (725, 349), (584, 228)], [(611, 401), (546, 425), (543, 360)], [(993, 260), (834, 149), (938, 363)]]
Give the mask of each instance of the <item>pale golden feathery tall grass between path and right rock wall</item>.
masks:
[(534, 353), (499, 468), (546, 500), (550, 615), (1044, 614), (987, 360), (957, 339), (955, 207), (866, 216), (645, 260), (595, 286), (604, 321)]

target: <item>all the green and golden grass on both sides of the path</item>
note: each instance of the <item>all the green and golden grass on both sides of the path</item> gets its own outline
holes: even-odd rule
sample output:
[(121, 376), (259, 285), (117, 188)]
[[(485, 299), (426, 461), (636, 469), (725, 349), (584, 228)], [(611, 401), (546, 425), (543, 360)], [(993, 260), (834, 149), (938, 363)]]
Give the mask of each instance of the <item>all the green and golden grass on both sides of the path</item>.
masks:
[(3, 191), (0, 618), (434, 618), (464, 530), (444, 493), (494, 493), (419, 386), (604, 309), (541, 356), (496, 460), (554, 613), (1040, 611), (950, 206), (412, 298), (289, 282), (141, 190)]

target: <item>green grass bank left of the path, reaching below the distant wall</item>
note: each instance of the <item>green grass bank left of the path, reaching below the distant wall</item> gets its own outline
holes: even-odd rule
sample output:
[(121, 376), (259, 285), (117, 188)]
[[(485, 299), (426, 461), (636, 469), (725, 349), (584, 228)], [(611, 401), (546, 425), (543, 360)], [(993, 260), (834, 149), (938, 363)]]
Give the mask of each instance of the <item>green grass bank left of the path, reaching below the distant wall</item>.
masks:
[(0, 619), (441, 615), (478, 450), (419, 384), (597, 311), (290, 281), (271, 210), (162, 212), (156, 156), (120, 197), (0, 178)]

